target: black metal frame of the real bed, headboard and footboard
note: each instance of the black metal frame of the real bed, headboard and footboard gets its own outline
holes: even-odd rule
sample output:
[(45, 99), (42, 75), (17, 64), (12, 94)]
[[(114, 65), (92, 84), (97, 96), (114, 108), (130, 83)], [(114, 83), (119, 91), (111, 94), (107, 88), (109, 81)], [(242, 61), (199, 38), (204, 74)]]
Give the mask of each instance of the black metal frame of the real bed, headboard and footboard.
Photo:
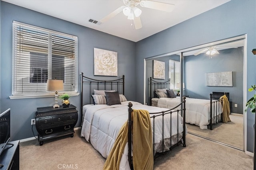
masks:
[[(89, 94), (90, 94), (90, 104), (92, 104), (91, 102), (91, 95), (93, 94), (93, 90), (117, 90), (118, 91), (118, 86), (122, 85), (122, 92), (124, 94), (124, 76), (122, 76), (122, 78), (116, 79), (116, 80), (95, 80), (92, 78), (88, 78), (86, 76), (83, 75), (83, 73), (81, 72), (81, 118), (83, 116), (82, 113), (82, 107), (83, 107), (83, 85), (84, 84), (88, 84), (89, 85)], [(103, 84), (103, 89), (100, 88), (100, 84)], [(96, 88), (92, 88), (92, 86), (96, 86)], [(109, 87), (108, 87), (109, 86)], [(116, 88), (114, 88), (114, 86), (116, 86)], [(108, 87), (108, 88), (107, 88)], [(172, 109), (168, 109), (166, 111), (161, 111), (161, 112), (156, 112), (156, 113), (150, 113), (150, 118), (153, 119), (153, 141), (155, 138), (155, 134), (154, 134), (154, 123), (155, 123), (155, 119), (156, 117), (162, 116), (162, 152), (164, 152), (164, 116), (167, 114), (170, 114), (170, 137), (172, 137), (171, 132), (172, 132), (172, 113), (176, 113), (177, 112), (177, 116), (178, 114), (180, 114), (183, 118), (183, 134), (182, 134), (182, 140), (179, 141), (178, 138), (178, 127), (177, 127), (177, 143), (175, 145), (172, 146), (172, 143), (170, 144), (170, 148), (169, 150), (171, 150), (173, 147), (175, 146), (179, 146), (179, 143), (182, 143), (183, 147), (186, 147), (186, 123), (185, 123), (185, 111), (186, 111), (186, 97), (183, 97), (182, 102), (172, 108)], [(180, 107), (181, 106), (181, 107)], [(174, 110), (176, 109), (176, 110)], [(162, 113), (162, 114), (159, 114)], [(184, 113), (184, 114), (183, 114)], [(156, 115), (158, 114), (158, 115)], [(178, 121), (178, 118), (177, 118)], [(129, 102), (128, 104), (128, 161), (129, 161), (129, 165), (130, 168), (133, 170), (133, 164), (132, 164), (132, 103)], [(177, 122), (178, 125), (178, 122)], [(154, 142), (153, 142), (153, 153), (154, 153)], [(155, 158), (155, 156), (154, 156)]]

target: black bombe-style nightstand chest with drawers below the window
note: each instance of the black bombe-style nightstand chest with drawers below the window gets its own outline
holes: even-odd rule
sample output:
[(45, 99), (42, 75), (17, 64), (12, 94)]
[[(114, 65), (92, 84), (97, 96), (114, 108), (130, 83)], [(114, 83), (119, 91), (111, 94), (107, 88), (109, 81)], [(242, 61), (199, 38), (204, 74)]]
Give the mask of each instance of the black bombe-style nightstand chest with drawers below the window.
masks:
[(74, 126), (78, 120), (76, 106), (59, 108), (38, 107), (36, 111), (36, 130), (38, 131), (38, 141), (43, 145), (43, 141), (64, 135), (74, 136)]

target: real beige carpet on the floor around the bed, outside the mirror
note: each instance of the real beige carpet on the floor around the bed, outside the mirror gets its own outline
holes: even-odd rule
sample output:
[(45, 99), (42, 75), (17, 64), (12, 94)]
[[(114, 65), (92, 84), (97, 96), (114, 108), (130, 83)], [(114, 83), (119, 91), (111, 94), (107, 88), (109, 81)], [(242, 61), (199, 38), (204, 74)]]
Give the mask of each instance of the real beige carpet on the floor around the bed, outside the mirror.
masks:
[[(243, 151), (188, 134), (182, 145), (156, 158), (155, 170), (251, 170), (252, 157)], [(73, 138), (20, 143), (20, 170), (102, 170), (105, 162), (76, 131)]]

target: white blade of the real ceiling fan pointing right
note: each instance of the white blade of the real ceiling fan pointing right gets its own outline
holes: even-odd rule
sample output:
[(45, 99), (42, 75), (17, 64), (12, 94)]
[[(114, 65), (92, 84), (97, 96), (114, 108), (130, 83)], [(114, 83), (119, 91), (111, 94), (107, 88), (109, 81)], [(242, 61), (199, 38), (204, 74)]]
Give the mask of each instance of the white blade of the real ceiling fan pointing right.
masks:
[(174, 4), (166, 4), (163, 2), (155, 2), (150, 0), (141, 0), (140, 6), (165, 12), (172, 12), (172, 10), (174, 9)]

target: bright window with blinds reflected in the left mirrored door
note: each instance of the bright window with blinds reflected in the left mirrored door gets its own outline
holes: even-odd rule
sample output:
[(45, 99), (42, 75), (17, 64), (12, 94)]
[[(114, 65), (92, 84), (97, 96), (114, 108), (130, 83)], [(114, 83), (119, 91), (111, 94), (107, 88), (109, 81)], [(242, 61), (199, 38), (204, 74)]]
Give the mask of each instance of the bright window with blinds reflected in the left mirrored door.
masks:
[(169, 60), (170, 89), (180, 89), (180, 62)]

